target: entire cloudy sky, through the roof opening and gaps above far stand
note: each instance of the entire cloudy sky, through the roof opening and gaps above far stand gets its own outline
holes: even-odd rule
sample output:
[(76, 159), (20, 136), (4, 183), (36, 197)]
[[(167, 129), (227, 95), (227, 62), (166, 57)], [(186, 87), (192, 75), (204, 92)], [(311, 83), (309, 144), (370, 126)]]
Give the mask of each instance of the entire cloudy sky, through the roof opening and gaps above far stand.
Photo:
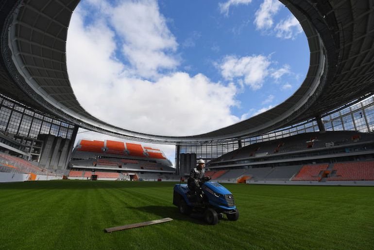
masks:
[[(309, 49), (277, 0), (82, 0), (69, 25), (67, 61), (74, 92), (92, 115), (185, 136), (286, 100), (306, 76)], [(174, 161), (174, 146), (158, 148)]]

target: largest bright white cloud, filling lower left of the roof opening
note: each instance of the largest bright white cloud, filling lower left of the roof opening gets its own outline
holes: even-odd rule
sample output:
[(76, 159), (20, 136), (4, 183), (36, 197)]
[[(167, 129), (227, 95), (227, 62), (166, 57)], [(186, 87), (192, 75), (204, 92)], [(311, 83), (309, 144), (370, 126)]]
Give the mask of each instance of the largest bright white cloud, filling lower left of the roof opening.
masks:
[(102, 21), (85, 27), (83, 15), (78, 8), (70, 22), (67, 64), (77, 99), (89, 113), (126, 129), (172, 136), (204, 133), (239, 121), (230, 110), (238, 105), (234, 84), (184, 72), (154, 81), (134, 77), (114, 56), (114, 31)]

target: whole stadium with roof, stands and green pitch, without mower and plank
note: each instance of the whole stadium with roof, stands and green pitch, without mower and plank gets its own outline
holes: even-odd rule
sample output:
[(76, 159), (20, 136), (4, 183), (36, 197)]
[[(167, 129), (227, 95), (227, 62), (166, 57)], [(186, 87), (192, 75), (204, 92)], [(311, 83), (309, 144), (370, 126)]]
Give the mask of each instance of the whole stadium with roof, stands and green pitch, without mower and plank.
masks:
[[(0, 248), (372, 249), (374, 2), (280, 2), (307, 38), (301, 86), (236, 124), (169, 136), (78, 102), (66, 42), (79, 0), (1, 0)], [(76, 140), (80, 128), (118, 140)], [(174, 162), (145, 143), (175, 145)], [(232, 192), (238, 221), (206, 225), (173, 205), (199, 159)]]

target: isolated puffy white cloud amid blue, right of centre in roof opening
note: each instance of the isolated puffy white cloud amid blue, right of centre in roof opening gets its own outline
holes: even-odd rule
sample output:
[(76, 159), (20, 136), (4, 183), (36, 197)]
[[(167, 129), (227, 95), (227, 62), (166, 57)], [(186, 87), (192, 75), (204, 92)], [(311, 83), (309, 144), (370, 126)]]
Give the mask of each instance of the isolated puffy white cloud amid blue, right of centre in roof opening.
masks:
[(253, 90), (260, 89), (264, 78), (269, 74), (271, 61), (264, 55), (237, 57), (225, 56), (219, 65), (221, 75), (226, 80), (242, 79)]

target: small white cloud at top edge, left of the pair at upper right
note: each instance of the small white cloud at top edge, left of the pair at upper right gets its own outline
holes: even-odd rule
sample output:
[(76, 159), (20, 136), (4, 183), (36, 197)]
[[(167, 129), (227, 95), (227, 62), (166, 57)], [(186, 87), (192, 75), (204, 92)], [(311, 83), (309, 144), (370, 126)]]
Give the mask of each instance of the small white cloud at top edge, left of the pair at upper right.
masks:
[(270, 29), (273, 25), (273, 16), (279, 11), (282, 3), (279, 0), (264, 0), (255, 13), (257, 30)]

